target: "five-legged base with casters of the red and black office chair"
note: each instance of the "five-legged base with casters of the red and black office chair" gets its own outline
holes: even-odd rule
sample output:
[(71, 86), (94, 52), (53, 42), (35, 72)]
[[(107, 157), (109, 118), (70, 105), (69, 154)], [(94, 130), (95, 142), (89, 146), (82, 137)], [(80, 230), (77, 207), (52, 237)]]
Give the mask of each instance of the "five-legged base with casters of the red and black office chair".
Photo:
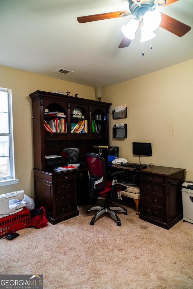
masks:
[(97, 220), (97, 218), (99, 218), (102, 214), (104, 213), (109, 213), (112, 215), (112, 217), (115, 219), (115, 221), (117, 221), (117, 226), (121, 226), (121, 220), (119, 219), (119, 217), (117, 216), (117, 214), (115, 214), (114, 211), (120, 211), (120, 212), (124, 212), (124, 215), (127, 215), (127, 210), (125, 208), (122, 207), (109, 207), (109, 201), (108, 201), (108, 196), (105, 197), (105, 204), (104, 207), (101, 206), (95, 206), (95, 207), (91, 207), (87, 209), (87, 214), (90, 213), (90, 211), (94, 211), (94, 210), (99, 210), (94, 217), (92, 218), (90, 225), (94, 225), (94, 222)]

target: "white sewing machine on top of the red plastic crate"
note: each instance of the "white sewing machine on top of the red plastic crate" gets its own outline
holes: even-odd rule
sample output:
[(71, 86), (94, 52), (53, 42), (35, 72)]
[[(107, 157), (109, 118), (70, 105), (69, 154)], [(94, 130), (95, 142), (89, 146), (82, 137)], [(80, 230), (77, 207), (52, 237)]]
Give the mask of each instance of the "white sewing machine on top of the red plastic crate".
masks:
[[(9, 201), (13, 199), (17, 199), (18, 201), (14, 204), (9, 204)], [(0, 218), (23, 210), (23, 207), (26, 205), (25, 201), (21, 201), (23, 199), (24, 191), (15, 191), (0, 195)]]

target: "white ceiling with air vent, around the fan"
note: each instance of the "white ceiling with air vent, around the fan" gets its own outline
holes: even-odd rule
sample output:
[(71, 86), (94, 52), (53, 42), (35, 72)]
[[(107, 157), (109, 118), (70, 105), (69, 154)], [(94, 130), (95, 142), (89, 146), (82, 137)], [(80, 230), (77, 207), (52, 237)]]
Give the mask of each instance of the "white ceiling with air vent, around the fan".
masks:
[[(128, 10), (127, 0), (0, 0), (0, 65), (91, 87), (107, 87), (193, 58), (193, 1), (159, 8), (192, 29), (178, 37), (158, 27), (118, 48), (132, 16), (80, 24), (77, 17)], [(67, 76), (59, 68), (75, 71)]]

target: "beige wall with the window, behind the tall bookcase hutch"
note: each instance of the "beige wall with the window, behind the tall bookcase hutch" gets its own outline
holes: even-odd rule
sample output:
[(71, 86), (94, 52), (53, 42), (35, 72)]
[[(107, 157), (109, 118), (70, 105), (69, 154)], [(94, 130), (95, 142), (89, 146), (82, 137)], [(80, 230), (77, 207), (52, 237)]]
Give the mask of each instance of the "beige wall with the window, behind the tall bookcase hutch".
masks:
[(95, 89), (68, 81), (0, 66), (0, 87), (12, 90), (15, 177), (19, 183), (1, 186), (0, 193), (24, 190), (34, 198), (32, 102), (29, 94), (36, 90), (70, 91), (74, 96), (95, 99)]

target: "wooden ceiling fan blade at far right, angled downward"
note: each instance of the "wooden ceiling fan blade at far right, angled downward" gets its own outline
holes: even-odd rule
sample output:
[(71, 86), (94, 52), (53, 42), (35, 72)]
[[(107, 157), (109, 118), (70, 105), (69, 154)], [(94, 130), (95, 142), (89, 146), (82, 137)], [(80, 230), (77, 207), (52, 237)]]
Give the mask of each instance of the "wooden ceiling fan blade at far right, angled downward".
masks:
[(161, 13), (162, 15), (162, 21), (160, 23), (160, 27), (168, 30), (169, 32), (182, 37), (185, 35), (188, 31), (190, 31), (191, 27), (166, 15)]

